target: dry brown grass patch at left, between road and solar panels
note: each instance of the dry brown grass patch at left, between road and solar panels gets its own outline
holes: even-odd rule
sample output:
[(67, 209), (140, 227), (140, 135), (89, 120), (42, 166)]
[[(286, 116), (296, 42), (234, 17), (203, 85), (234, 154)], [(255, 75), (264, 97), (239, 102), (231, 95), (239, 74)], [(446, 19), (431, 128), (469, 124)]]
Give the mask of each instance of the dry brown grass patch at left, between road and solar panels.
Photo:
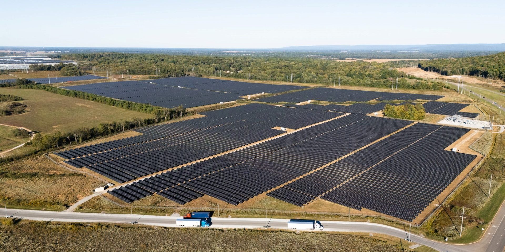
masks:
[(0, 167), (0, 197), (11, 207), (63, 210), (102, 183), (43, 155)]

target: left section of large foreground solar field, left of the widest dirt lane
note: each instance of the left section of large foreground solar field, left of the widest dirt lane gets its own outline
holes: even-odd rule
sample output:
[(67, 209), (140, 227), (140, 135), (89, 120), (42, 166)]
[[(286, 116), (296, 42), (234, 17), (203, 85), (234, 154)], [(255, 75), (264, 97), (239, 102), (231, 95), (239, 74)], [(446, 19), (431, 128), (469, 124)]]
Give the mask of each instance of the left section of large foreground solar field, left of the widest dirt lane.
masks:
[(206, 117), (140, 129), (141, 136), (56, 153), (74, 167), (86, 167), (126, 182), (298, 129), (340, 113), (248, 104), (206, 113)]

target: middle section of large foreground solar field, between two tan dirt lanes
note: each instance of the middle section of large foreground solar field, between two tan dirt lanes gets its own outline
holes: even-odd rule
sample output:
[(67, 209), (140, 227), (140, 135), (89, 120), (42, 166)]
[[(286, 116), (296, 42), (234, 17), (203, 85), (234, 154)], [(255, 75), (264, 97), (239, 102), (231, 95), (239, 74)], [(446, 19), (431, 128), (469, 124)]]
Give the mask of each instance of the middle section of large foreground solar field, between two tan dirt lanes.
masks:
[(193, 197), (179, 192), (195, 192), (237, 205), (409, 123), (346, 115), (281, 138), (145, 178), (115, 189), (112, 194), (119, 194), (123, 200), (131, 202), (138, 196), (129, 194), (130, 191), (146, 190), (184, 204)]

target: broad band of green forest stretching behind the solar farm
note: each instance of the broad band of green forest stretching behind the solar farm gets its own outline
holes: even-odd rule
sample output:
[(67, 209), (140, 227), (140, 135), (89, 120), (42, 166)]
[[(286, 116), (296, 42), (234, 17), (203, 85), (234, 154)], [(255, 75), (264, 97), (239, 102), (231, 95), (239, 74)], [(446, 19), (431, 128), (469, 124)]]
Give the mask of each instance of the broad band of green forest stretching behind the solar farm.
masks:
[[(405, 78), (387, 64), (339, 62), (318, 58), (218, 57), (133, 53), (77, 53), (59, 55), (64, 59), (90, 62), (82, 70), (112, 71), (159, 78), (178, 76), (220, 76), (258, 81), (288, 81), (353, 86), (391, 87), (392, 79)], [(441, 89), (436, 83), (401, 80), (399, 88)]]

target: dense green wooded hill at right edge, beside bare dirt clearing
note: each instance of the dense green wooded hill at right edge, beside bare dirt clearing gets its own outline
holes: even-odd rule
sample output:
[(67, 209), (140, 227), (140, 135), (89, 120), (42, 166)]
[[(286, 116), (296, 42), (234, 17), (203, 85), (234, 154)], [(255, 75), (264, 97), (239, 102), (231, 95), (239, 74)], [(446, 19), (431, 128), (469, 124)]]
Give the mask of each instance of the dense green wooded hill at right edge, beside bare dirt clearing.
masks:
[(419, 62), (424, 71), (441, 75), (473, 75), (505, 80), (505, 52), (466, 58), (440, 58)]

